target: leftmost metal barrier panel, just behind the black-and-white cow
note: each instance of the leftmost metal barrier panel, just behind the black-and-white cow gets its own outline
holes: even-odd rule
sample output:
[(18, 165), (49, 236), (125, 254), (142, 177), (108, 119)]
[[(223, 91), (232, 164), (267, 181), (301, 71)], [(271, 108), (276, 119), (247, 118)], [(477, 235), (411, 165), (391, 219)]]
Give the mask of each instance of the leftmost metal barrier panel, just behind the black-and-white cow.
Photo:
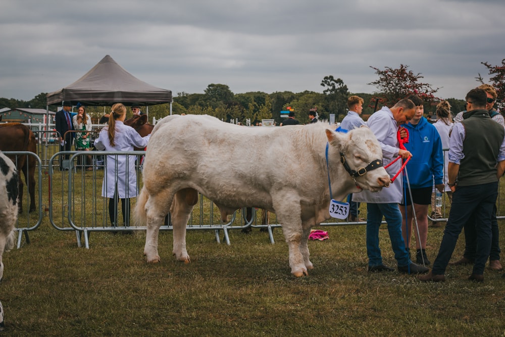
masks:
[[(29, 174), (25, 175), (19, 172), (19, 179), (23, 182), (23, 198), (20, 202), (23, 204), (23, 213), (18, 214), (18, 220), (16, 222), (16, 231), (18, 232), (17, 238), (17, 248), (21, 247), (21, 240), (23, 234), (25, 236), (26, 242), (30, 243), (30, 237), (28, 232), (36, 229), (42, 223), (42, 209), (45, 209), (42, 204), (42, 165), (40, 162), (40, 158), (35, 155), (33, 152), (29, 151), (5, 151), (4, 154), (9, 158), (13, 159), (14, 164), (18, 167), (18, 162), (21, 161), (24, 157), (26, 162), (26, 172), (30, 172), (30, 161), (29, 157), (33, 157), (35, 160), (35, 173), (33, 177), (30, 177)], [(33, 181), (33, 180), (34, 181)], [(29, 187), (31, 183), (35, 182), (35, 195), (33, 198), (35, 199), (35, 208), (36, 213), (30, 213), (30, 192)]]

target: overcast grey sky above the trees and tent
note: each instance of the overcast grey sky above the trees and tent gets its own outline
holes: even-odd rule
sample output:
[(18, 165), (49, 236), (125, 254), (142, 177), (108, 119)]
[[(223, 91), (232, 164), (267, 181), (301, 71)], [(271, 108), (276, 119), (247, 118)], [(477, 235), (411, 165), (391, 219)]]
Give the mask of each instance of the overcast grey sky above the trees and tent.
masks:
[[(374, 92), (400, 64), (464, 99), (505, 58), (505, 0), (2, 0), (0, 97), (31, 100), (106, 55), (178, 92), (322, 92), (324, 76)], [(175, 99), (176, 100), (176, 99)]]

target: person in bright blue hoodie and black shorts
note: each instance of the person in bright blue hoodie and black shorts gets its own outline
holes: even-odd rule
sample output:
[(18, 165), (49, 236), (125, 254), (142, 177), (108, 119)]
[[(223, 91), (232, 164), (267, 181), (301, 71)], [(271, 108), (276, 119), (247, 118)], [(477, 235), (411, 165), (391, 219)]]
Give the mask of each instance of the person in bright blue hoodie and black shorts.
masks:
[(405, 125), (409, 131), (409, 142), (405, 144), (405, 148), (412, 153), (412, 158), (406, 166), (406, 174), (403, 175), (403, 202), (399, 205), (402, 215), (401, 233), (405, 247), (410, 252), (412, 220), (415, 214), (416, 263), (429, 265), (430, 261), (426, 256), (428, 206), (431, 204), (433, 182), (439, 191), (444, 188), (442, 141), (437, 129), (423, 117), (423, 100), (417, 95), (410, 95), (409, 99), (416, 105), (416, 114)]

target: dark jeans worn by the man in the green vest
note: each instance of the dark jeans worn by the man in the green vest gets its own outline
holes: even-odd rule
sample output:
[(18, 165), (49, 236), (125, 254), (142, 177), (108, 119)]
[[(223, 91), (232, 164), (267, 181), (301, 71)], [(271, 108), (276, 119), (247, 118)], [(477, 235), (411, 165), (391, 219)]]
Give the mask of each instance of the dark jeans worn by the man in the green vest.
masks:
[(445, 225), (442, 243), (433, 262), (432, 273), (442, 275), (449, 263), (467, 220), (474, 216), (476, 250), (473, 274), (482, 275), (491, 249), (491, 216), (498, 197), (498, 182), (473, 186), (458, 186), (452, 194), (452, 205)]

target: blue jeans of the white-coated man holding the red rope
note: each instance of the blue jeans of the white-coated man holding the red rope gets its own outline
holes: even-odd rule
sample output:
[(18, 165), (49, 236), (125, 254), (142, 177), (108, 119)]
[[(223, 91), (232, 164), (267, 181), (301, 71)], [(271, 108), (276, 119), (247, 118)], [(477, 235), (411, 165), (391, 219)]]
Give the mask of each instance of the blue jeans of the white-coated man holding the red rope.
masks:
[(382, 264), (382, 256), (379, 248), (379, 227), (382, 222), (382, 216), (384, 216), (387, 222), (391, 247), (394, 252), (394, 258), (398, 262), (398, 266), (408, 266), (410, 258), (405, 248), (403, 237), (401, 236), (401, 212), (396, 203), (367, 203), (368, 265), (379, 266)]

